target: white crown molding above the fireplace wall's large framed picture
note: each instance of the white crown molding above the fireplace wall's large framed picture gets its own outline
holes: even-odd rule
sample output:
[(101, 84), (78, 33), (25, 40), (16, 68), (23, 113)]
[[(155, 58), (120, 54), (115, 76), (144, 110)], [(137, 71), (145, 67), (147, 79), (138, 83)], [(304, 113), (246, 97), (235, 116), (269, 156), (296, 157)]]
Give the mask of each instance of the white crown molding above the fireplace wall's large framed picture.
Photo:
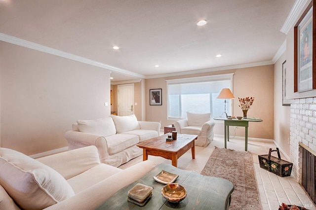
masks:
[(281, 32), (286, 34), (294, 27), (297, 20), (299, 19), (299, 15), (305, 10), (305, 8), (309, 5), (311, 0), (296, 0), (290, 13), (288, 14), (282, 28)]

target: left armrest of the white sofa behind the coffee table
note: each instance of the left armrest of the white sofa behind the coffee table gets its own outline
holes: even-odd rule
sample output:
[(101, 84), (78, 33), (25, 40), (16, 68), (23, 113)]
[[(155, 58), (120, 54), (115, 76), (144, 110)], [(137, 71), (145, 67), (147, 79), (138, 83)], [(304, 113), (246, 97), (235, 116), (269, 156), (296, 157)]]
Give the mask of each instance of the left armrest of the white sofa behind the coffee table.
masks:
[(90, 145), (96, 146), (102, 163), (110, 155), (107, 140), (102, 136), (79, 131), (67, 131), (65, 138), (68, 141), (68, 148), (70, 150)]

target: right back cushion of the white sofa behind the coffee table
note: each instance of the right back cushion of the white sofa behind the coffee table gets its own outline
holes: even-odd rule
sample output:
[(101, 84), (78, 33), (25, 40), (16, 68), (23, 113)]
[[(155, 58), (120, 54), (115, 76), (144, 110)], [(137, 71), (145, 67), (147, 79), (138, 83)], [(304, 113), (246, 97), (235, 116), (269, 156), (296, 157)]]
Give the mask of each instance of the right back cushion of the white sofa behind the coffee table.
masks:
[(117, 133), (137, 130), (140, 128), (135, 114), (128, 115), (128, 116), (111, 115), (111, 117), (114, 121), (115, 128), (117, 129)]

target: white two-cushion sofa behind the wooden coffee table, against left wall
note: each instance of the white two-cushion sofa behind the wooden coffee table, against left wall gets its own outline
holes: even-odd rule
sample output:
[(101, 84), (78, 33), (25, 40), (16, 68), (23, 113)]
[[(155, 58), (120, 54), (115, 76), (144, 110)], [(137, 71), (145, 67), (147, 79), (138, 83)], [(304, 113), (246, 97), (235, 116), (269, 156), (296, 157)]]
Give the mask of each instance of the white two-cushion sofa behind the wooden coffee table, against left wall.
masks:
[(65, 138), (69, 149), (94, 145), (98, 148), (101, 162), (118, 167), (143, 154), (136, 146), (139, 142), (160, 135), (160, 123), (137, 121), (135, 115), (78, 120)]

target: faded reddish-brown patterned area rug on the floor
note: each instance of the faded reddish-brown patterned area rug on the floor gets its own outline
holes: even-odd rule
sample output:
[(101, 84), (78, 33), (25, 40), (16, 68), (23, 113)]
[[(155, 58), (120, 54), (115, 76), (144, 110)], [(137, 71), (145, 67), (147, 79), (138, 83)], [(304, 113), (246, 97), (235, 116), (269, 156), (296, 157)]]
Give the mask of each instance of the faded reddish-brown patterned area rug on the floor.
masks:
[(215, 147), (201, 175), (233, 182), (230, 210), (261, 210), (257, 181), (250, 152)]

